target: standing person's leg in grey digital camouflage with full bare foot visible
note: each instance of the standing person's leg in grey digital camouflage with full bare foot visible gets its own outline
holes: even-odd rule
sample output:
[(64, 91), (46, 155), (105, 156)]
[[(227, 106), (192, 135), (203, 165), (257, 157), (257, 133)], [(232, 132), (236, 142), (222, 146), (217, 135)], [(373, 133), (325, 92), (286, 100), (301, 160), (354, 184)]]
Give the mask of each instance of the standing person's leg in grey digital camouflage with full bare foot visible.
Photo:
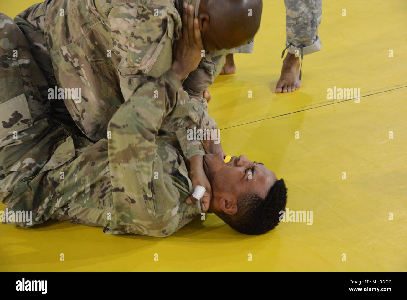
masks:
[(322, 0), (284, 0), (284, 4), (287, 33), (285, 49), (288, 53), (283, 61), (276, 93), (289, 93), (300, 88), (300, 56), (321, 50), (318, 26), (321, 23)]

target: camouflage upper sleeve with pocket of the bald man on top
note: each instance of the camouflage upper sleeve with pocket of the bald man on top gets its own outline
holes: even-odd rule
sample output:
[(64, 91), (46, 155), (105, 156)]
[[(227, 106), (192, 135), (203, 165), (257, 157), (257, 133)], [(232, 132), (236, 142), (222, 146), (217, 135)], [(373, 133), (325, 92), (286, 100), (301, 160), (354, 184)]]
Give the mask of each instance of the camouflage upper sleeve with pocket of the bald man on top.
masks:
[(111, 9), (113, 51), (122, 60), (118, 71), (123, 76), (142, 73), (158, 78), (171, 68), (171, 40), (180, 18), (173, 5), (164, 4), (119, 2)]

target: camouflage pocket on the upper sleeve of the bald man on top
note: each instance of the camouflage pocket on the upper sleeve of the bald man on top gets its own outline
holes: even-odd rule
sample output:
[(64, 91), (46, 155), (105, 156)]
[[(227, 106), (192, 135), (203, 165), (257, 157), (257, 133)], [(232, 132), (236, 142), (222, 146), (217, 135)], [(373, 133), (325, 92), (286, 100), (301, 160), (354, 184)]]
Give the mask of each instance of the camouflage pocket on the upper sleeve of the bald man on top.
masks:
[(138, 5), (127, 52), (129, 64), (146, 75), (160, 77), (171, 68), (173, 32), (174, 20), (164, 7)]

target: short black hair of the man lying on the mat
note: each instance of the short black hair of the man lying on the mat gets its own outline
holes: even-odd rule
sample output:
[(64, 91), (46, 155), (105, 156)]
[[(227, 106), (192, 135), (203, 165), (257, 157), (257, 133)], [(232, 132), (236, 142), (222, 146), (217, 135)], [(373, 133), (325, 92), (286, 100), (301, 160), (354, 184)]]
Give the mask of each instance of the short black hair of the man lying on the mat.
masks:
[(222, 214), (220, 217), (238, 232), (260, 235), (278, 225), (280, 211), (284, 211), (286, 205), (287, 188), (284, 179), (280, 179), (271, 186), (265, 199), (258, 194), (243, 194), (237, 199), (238, 212), (233, 216)]

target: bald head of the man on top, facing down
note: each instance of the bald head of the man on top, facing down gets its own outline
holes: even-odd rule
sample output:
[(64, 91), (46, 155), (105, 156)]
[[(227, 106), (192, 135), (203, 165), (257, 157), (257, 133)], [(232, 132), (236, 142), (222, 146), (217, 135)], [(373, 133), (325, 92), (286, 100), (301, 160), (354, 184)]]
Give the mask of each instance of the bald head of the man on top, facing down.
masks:
[(218, 50), (234, 48), (254, 38), (260, 27), (262, 0), (202, 1), (206, 2), (204, 12), (210, 16), (208, 33), (203, 38), (212, 39)]

